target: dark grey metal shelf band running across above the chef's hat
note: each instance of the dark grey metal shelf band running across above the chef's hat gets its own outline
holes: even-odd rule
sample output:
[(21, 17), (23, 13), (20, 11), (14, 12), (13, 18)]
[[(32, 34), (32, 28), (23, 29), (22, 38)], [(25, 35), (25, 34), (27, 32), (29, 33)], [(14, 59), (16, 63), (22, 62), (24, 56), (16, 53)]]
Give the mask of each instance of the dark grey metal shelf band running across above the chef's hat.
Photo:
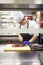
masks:
[(26, 9), (43, 9), (43, 4), (0, 4), (0, 9), (14, 9), (14, 8), (26, 8)]

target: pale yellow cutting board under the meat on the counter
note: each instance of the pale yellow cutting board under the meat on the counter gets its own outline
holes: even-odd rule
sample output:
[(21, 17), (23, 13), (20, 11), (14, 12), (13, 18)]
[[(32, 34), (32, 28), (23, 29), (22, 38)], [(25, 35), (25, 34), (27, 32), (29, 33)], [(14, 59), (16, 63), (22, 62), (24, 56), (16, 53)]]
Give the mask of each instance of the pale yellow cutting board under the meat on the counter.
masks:
[(4, 47), (5, 52), (28, 52), (30, 51), (29, 46), (24, 46), (24, 47), (12, 47), (12, 44), (6, 44)]

